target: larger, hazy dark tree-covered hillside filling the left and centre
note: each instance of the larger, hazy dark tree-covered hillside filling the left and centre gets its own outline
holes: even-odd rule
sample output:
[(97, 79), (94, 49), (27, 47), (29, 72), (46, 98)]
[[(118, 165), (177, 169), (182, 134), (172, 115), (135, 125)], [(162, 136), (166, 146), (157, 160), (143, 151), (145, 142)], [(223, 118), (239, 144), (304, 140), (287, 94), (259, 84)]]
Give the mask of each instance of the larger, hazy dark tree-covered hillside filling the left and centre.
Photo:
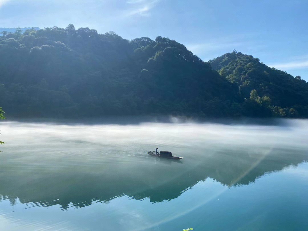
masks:
[(73, 25), (26, 30), (1, 37), (0, 57), (8, 115), (224, 115), (216, 107), (232, 97), (209, 63), (162, 37), (128, 41)]

